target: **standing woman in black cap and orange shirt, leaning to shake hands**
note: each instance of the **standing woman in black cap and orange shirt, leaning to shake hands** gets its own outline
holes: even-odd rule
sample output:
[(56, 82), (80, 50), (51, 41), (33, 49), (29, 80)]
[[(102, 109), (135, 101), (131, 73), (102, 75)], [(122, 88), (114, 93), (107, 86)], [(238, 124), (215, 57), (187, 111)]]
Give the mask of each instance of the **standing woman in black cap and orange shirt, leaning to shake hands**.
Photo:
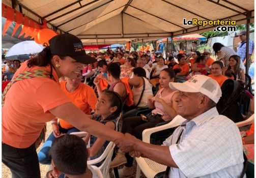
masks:
[(77, 78), (83, 64), (95, 61), (86, 55), (79, 38), (61, 34), (16, 71), (2, 97), (2, 162), (13, 177), (41, 177), (36, 143), (44, 138), (45, 123), (55, 117), (101, 139), (114, 141), (124, 136), (93, 121), (59, 85), (60, 77)]

